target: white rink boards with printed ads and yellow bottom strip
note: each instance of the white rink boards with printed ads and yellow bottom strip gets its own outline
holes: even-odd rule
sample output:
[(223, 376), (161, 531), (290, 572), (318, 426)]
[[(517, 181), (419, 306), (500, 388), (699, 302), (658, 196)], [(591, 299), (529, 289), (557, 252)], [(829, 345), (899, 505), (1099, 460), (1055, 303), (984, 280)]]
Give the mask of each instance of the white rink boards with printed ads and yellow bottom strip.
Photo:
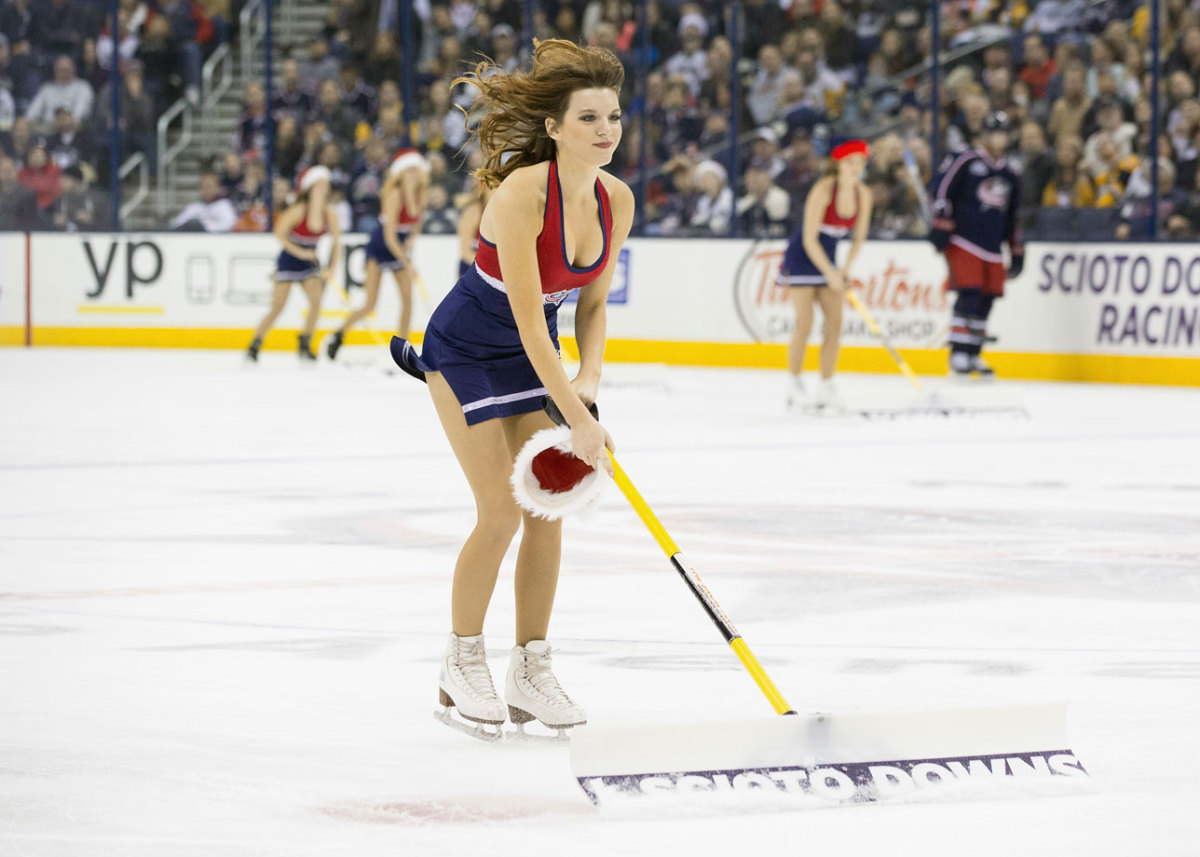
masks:
[[(344, 252), (318, 329), (336, 328), (362, 300), (366, 236)], [(244, 348), (266, 311), (278, 252), (271, 235), (172, 233), (0, 235), (0, 344)], [(608, 305), (606, 359), (782, 367), (788, 293), (775, 283), (782, 241), (631, 239)], [(841, 252), (848, 248), (841, 245)], [(328, 252), (324, 248), (323, 252)], [(457, 241), (422, 235), (414, 257), (414, 338), (454, 284)], [(946, 266), (923, 241), (870, 241), (853, 286), (920, 373), (944, 373), (950, 300)], [(26, 283), (29, 299), (26, 301)], [(293, 348), (306, 302), (293, 294), (266, 348)], [(372, 326), (398, 318), (385, 275)], [(820, 342), (820, 325), (812, 344)], [(574, 304), (560, 310), (575, 353)], [(1034, 244), (1024, 274), (992, 313), (989, 356), (1006, 377), (1200, 385), (1200, 248), (1195, 245)], [(384, 337), (385, 338), (385, 337)], [(370, 344), (365, 330), (349, 342)], [(894, 365), (848, 307), (840, 367)], [(815, 348), (809, 362), (816, 365)]]

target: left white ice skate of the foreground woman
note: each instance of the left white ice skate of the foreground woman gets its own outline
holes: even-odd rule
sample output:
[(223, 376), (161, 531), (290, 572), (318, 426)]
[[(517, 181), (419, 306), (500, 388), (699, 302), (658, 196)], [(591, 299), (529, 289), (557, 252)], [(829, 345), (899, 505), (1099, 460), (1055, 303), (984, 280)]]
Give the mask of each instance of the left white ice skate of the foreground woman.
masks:
[[(438, 702), (442, 711), (434, 712), (433, 717), (446, 726), (480, 741), (504, 737), (500, 731), (505, 720), (504, 703), (492, 684), (482, 634), (470, 637), (450, 635), (438, 673)], [(457, 709), (458, 717), (451, 709)]]

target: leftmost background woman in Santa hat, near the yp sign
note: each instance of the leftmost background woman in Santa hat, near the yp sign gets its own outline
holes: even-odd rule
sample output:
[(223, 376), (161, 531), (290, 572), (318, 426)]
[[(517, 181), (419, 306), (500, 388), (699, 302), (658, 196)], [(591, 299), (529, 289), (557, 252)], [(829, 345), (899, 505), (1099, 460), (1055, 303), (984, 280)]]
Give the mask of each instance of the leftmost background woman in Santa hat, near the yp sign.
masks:
[[(328, 167), (317, 166), (304, 170), (296, 178), (295, 199), (289, 202), (288, 206), (275, 218), (275, 236), (280, 239), (283, 250), (280, 251), (275, 266), (271, 308), (262, 324), (258, 325), (258, 330), (254, 331), (254, 340), (246, 352), (247, 359), (252, 361), (258, 360), (263, 338), (275, 324), (275, 319), (283, 312), (293, 283), (304, 286), (305, 295), (308, 298), (308, 316), (298, 343), (300, 359), (317, 359), (312, 352), (312, 335), (317, 329), (317, 318), (320, 314), (320, 293), (325, 284), (326, 272), (336, 268), (341, 252), (341, 229), (337, 224), (337, 215), (328, 202), (331, 180), (332, 175)], [(334, 239), (334, 248), (329, 256), (329, 268), (323, 270), (320, 259), (317, 257), (317, 242), (326, 232)]]

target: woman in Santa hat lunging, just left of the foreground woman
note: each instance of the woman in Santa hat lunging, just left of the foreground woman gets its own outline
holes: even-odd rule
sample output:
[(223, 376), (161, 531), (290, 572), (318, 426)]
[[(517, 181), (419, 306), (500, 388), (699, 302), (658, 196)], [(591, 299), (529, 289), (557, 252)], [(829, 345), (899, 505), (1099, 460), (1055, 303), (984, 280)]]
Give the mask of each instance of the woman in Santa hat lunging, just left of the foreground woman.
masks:
[(379, 223), (367, 240), (366, 277), (362, 282), (367, 299), (330, 335), (325, 346), (330, 360), (337, 359), (346, 332), (374, 312), (384, 271), (391, 271), (400, 289), (398, 335), (408, 338), (413, 317), (413, 244), (425, 216), (428, 176), (430, 162), (415, 149), (401, 149), (388, 167), (379, 190)]

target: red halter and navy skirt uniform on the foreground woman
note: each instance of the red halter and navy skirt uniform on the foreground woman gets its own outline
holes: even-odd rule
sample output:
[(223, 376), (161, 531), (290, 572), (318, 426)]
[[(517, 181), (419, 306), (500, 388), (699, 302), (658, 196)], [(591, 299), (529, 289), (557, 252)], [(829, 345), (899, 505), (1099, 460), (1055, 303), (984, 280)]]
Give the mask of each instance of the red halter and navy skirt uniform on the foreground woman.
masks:
[[(612, 208), (608, 192), (599, 179), (595, 197), (604, 250), (590, 265), (577, 268), (566, 258), (563, 188), (558, 181), (558, 164), (550, 162), (546, 211), (536, 250), (542, 306), (554, 348), (558, 348), (559, 305), (570, 292), (599, 277), (608, 264)], [(424, 372), (442, 373), (462, 406), (468, 425), (541, 408), (546, 389), (521, 344), (496, 245), (482, 234), (475, 264), (433, 311), (415, 365)]]

